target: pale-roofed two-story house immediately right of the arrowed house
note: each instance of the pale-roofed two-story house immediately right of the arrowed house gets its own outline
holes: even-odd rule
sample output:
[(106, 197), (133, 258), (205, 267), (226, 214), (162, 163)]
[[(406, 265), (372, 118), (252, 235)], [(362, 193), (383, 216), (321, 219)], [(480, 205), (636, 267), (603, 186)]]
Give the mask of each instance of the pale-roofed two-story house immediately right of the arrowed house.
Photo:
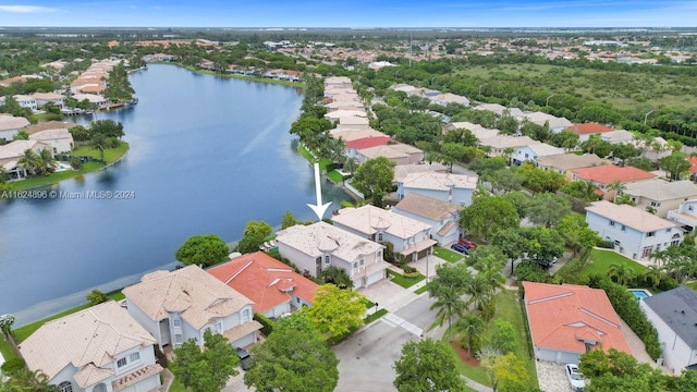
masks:
[(429, 224), (371, 205), (340, 209), (332, 220), (334, 226), (352, 234), (391, 243), (394, 253), (404, 256), (407, 262), (431, 255), (437, 244), (430, 238)]

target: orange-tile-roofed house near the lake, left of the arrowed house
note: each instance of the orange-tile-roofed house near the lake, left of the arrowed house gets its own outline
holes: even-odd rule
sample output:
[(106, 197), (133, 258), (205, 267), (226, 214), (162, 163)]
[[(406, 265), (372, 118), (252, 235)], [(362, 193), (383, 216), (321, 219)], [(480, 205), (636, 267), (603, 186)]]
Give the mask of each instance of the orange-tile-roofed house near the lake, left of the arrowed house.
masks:
[(313, 305), (318, 287), (317, 283), (264, 252), (235, 257), (207, 271), (254, 301), (254, 313), (270, 318)]

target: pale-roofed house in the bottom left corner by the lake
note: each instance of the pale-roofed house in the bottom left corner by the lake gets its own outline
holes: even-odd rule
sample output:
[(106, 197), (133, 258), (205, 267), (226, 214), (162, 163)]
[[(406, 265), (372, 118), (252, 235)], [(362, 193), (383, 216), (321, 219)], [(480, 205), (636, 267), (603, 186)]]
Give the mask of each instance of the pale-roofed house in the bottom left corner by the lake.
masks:
[(138, 392), (160, 387), (156, 340), (108, 301), (46, 322), (19, 348), (61, 392)]

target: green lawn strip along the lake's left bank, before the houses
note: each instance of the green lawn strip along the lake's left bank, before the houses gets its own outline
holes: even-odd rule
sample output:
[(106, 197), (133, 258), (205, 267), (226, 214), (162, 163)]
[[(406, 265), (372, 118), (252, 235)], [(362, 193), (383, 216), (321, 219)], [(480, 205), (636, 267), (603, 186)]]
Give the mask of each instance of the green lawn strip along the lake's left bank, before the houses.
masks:
[[(105, 150), (105, 160), (107, 163), (113, 163), (129, 150), (129, 144), (122, 142), (121, 145), (117, 148), (109, 148)], [(99, 159), (99, 151), (95, 150), (91, 147), (82, 146), (75, 148), (71, 155), (80, 156), (80, 157), (93, 157)], [(105, 166), (99, 162), (87, 162), (83, 164), (80, 170), (68, 170), (58, 173), (52, 173), (50, 175), (37, 175), (26, 180), (16, 181), (10, 183), (11, 191), (20, 191), (20, 189), (29, 189), (40, 186), (47, 186), (51, 184), (56, 184), (58, 182), (75, 179), (82, 176), (85, 173), (94, 172), (99, 169), (102, 169)]]

